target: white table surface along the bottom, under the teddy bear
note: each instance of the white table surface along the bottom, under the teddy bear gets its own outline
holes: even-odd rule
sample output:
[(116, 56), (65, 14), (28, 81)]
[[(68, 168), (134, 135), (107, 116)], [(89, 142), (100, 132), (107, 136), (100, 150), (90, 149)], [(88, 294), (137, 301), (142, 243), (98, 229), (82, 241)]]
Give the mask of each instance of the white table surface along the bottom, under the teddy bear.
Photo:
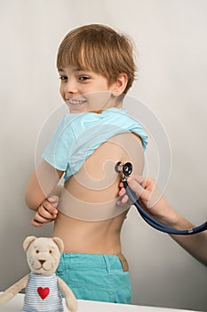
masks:
[[(0, 312), (20, 312), (23, 306), (24, 295), (18, 294), (12, 300), (10, 300), (4, 307), (0, 307)], [(123, 305), (117, 303), (96, 302), (96, 301), (78, 301), (78, 312), (187, 312), (187, 310), (180, 310), (175, 308), (155, 308), (155, 307), (143, 307), (133, 305)], [(68, 311), (68, 308), (64, 303), (64, 311)], [(50, 312), (50, 311), (48, 311)], [(191, 312), (195, 312), (191, 310)], [(196, 311), (197, 312), (197, 311)]]

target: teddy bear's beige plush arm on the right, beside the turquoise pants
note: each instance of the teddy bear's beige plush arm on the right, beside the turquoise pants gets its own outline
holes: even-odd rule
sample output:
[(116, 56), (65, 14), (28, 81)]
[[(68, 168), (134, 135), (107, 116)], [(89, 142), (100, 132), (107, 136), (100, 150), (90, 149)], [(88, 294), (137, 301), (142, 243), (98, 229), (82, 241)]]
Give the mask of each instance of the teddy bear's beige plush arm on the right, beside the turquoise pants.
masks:
[(60, 291), (64, 294), (68, 310), (70, 312), (76, 312), (77, 300), (73, 291), (71, 291), (71, 289), (68, 287), (68, 284), (65, 283), (60, 277), (57, 277), (57, 278), (58, 278)]

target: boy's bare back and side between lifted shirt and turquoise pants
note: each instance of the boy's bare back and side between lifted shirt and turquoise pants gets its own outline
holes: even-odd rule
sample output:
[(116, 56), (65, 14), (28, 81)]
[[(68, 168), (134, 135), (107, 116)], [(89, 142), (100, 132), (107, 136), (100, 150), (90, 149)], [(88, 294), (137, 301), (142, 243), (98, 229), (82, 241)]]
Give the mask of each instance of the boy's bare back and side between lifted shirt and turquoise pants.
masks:
[[(108, 157), (109, 155), (109, 157)], [(54, 223), (52, 236), (62, 238), (64, 252), (117, 254), (122, 251), (120, 234), (123, 221), (129, 211), (114, 216), (115, 202), (118, 200), (119, 182), (121, 175), (115, 172), (115, 164), (121, 161), (131, 161), (133, 173), (141, 174), (144, 167), (143, 148), (137, 135), (131, 133), (115, 135), (112, 139), (93, 152), (84, 162), (79, 172), (70, 177), (64, 185), (60, 196), (60, 212)], [(95, 165), (94, 165), (95, 164)], [(70, 194), (70, 201), (64, 193)], [(90, 220), (71, 218), (69, 207), (76, 210), (80, 206), (87, 209), (89, 204), (97, 204), (108, 209), (109, 217)], [(64, 212), (61, 212), (64, 207)], [(68, 209), (68, 210), (66, 210)], [(118, 209), (116, 207), (116, 209)]]

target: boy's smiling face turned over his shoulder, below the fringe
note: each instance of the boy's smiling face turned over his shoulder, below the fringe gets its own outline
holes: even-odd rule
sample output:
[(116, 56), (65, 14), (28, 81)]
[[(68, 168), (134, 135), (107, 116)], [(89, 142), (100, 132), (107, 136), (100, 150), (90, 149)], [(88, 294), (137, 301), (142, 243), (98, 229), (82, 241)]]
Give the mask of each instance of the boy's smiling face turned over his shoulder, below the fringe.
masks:
[(74, 66), (59, 69), (60, 94), (71, 113), (106, 110), (120, 107), (113, 95), (114, 85), (107, 78)]

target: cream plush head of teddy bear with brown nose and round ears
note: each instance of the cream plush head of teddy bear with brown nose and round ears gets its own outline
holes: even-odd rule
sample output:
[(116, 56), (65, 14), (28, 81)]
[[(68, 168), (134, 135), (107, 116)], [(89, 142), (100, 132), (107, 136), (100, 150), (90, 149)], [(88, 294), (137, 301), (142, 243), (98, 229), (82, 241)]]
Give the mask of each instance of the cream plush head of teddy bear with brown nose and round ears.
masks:
[(60, 253), (64, 245), (59, 237), (28, 236), (23, 242), (23, 248), (27, 252), (28, 267), (31, 272), (52, 275), (59, 265)]

